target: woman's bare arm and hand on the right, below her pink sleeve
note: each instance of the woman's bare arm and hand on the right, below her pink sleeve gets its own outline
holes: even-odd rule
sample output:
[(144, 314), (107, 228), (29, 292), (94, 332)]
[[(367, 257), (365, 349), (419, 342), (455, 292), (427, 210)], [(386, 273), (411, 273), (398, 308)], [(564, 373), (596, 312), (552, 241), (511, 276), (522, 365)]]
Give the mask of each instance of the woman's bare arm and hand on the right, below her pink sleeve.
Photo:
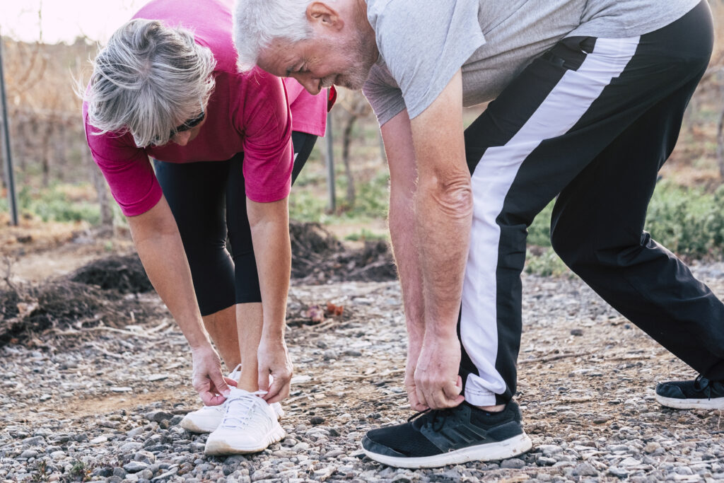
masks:
[[(288, 198), (272, 203), (246, 202), (256, 257), (264, 324), (258, 347), (258, 384), (264, 399), (276, 403), (289, 395), (292, 363), (284, 340), (287, 295), (292, 272)], [(274, 381), (269, 385), (269, 375)]]

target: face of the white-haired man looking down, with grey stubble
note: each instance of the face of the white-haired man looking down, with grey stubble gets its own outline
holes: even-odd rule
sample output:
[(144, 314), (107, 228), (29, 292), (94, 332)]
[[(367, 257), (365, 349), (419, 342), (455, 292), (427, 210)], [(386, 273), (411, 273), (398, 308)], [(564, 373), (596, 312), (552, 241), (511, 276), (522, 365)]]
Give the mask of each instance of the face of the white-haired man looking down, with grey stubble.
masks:
[(257, 64), (277, 77), (293, 77), (309, 93), (318, 94), (332, 84), (361, 89), (376, 60), (374, 38), (369, 46), (361, 33), (350, 31), (348, 38), (316, 35), (295, 43), (277, 39), (261, 51)]

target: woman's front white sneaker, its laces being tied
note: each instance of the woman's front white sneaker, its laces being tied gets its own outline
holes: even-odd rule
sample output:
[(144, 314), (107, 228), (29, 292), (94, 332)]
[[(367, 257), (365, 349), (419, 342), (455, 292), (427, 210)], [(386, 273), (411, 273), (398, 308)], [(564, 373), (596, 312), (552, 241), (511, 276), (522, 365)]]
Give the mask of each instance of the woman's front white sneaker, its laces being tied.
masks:
[(257, 453), (286, 436), (274, 410), (259, 397), (264, 391), (232, 388), (224, 402), (224, 418), (206, 440), (207, 455)]

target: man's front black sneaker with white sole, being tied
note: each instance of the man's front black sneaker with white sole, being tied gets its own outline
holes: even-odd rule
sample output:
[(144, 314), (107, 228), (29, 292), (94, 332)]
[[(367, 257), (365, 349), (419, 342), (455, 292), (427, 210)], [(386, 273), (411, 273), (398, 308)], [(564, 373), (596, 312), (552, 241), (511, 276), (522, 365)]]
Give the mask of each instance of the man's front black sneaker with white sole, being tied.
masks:
[(513, 401), (500, 413), (482, 411), (466, 402), (456, 408), (418, 413), (406, 424), (372, 429), (362, 440), (369, 458), (397, 468), (502, 460), (525, 453), (532, 445)]

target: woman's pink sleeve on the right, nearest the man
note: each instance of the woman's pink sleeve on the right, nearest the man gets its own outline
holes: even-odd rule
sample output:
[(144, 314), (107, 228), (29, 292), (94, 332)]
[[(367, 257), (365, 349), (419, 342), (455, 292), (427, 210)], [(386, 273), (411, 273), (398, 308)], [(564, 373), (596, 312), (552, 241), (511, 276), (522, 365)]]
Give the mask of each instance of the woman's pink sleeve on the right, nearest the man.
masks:
[(292, 126), (282, 81), (254, 70), (245, 82), (240, 130), (244, 133), (246, 196), (258, 203), (279, 201), (292, 187)]

